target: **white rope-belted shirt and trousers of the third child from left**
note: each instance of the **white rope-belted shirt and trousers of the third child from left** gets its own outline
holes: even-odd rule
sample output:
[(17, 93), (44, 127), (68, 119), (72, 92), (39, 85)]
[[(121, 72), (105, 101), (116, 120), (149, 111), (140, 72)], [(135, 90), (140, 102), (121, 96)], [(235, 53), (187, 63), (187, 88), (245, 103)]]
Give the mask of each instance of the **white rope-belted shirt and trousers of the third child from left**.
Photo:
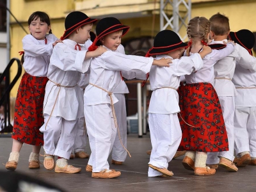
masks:
[(118, 102), (113, 91), (122, 80), (120, 71), (147, 74), (153, 58), (127, 56), (106, 51), (93, 58), (90, 68), (90, 84), (84, 91), (84, 116), (92, 154), (88, 164), (93, 172), (109, 170), (108, 156), (116, 138), (116, 125), (111, 104)]

